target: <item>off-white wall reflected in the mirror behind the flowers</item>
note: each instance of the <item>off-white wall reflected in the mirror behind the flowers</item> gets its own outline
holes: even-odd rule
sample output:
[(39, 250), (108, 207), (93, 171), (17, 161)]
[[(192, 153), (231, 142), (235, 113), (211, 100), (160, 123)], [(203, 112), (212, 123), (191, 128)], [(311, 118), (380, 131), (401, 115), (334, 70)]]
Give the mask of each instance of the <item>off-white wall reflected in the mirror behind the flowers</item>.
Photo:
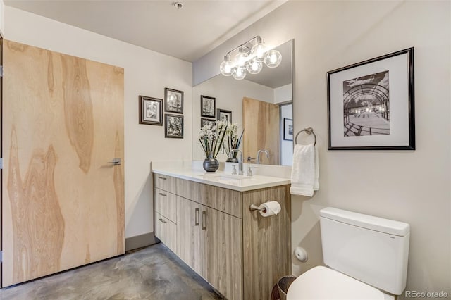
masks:
[[(242, 98), (244, 96), (260, 101), (274, 102), (274, 92), (270, 87), (249, 80), (235, 80), (223, 75), (215, 76), (192, 88), (192, 159), (203, 161), (205, 155), (199, 144), (200, 96), (216, 98), (216, 108), (232, 111), (232, 123), (242, 128)], [(218, 161), (226, 161), (226, 154), (218, 155)]]

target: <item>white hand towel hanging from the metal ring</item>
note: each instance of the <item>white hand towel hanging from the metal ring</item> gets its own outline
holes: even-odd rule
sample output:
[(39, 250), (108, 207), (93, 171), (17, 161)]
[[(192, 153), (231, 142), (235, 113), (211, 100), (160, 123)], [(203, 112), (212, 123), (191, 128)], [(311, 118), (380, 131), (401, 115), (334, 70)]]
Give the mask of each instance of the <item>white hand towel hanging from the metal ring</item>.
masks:
[(290, 193), (313, 196), (319, 189), (318, 151), (313, 144), (296, 145), (293, 151)]

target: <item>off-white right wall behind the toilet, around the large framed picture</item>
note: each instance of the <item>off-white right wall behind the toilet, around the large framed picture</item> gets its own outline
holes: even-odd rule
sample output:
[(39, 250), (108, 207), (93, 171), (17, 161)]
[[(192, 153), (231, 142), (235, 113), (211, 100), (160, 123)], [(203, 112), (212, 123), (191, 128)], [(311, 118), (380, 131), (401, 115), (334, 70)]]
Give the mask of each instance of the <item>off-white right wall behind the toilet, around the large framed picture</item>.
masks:
[[(194, 82), (255, 35), (295, 39), (295, 133), (318, 137), (319, 192), (292, 197), (292, 248), (309, 253), (293, 273), (322, 263), (318, 212), (335, 206), (409, 223), (407, 289), (451, 294), (451, 2), (288, 1), (194, 63)], [(326, 73), (411, 46), (416, 150), (328, 151)]]

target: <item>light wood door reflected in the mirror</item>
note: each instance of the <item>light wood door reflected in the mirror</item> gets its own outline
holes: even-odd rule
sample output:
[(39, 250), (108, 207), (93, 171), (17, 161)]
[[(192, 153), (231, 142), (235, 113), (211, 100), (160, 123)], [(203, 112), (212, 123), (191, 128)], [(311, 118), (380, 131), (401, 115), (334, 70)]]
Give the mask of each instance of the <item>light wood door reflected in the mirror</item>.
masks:
[(257, 158), (257, 151), (268, 150), (269, 158), (260, 154), (265, 165), (280, 165), (280, 112), (279, 106), (244, 97), (242, 99), (243, 135), (242, 156)]

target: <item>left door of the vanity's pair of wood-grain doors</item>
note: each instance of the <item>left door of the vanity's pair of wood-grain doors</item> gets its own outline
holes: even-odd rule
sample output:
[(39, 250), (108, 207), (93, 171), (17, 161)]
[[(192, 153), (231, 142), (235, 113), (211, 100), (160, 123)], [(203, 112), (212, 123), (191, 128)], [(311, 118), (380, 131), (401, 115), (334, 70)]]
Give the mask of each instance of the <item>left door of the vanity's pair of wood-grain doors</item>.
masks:
[(201, 249), (200, 204), (177, 196), (177, 251), (187, 265), (201, 276), (203, 259)]

